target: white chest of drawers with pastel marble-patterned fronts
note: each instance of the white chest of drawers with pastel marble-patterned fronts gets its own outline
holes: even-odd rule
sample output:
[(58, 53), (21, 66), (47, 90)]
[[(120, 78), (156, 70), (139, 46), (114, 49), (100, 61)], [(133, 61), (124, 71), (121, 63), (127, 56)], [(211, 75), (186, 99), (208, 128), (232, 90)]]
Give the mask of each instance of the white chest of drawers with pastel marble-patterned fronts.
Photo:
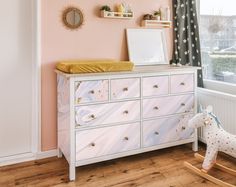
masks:
[(194, 67), (137, 67), (132, 72), (70, 75), (57, 72), (58, 156), (75, 168), (193, 143)]

